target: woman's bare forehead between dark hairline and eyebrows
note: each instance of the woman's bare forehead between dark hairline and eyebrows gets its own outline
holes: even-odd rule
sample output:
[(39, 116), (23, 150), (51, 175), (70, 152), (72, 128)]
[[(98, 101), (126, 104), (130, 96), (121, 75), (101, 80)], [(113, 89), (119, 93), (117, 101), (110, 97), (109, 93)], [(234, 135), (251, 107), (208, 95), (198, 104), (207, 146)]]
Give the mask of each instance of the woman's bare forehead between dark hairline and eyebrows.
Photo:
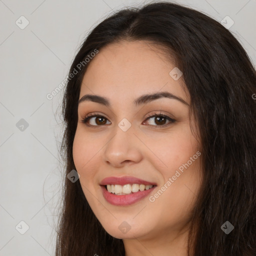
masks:
[(95, 93), (124, 102), (127, 97), (164, 90), (188, 102), (182, 79), (174, 80), (169, 74), (173, 68), (170, 53), (150, 42), (111, 43), (101, 48), (88, 63), (80, 97)]

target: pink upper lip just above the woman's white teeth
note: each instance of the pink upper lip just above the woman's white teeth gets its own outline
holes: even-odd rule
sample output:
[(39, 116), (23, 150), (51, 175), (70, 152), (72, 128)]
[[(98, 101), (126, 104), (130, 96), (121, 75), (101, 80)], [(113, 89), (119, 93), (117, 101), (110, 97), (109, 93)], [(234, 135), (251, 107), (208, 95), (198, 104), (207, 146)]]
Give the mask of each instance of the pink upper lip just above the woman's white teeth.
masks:
[(106, 177), (101, 180), (100, 185), (125, 185), (125, 184), (144, 184), (144, 185), (156, 185), (155, 182), (146, 181), (137, 177), (122, 176), (122, 177)]

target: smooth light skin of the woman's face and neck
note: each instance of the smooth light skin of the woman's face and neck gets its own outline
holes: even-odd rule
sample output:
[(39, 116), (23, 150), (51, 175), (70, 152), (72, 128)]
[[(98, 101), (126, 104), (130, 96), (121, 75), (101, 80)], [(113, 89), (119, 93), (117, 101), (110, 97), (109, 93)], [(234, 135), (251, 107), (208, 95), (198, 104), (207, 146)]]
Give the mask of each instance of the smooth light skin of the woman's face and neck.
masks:
[[(87, 93), (98, 94), (106, 97), (110, 106), (79, 103), (73, 159), (92, 211), (110, 235), (123, 240), (126, 256), (186, 255), (189, 218), (201, 184), (200, 157), (158, 198), (149, 201), (149, 196), (199, 150), (199, 139), (189, 126), (189, 93), (182, 88), (181, 78), (174, 80), (169, 75), (174, 67), (166, 53), (149, 42), (121, 41), (101, 48), (90, 60), (82, 80), (79, 99)], [(187, 104), (167, 97), (139, 106), (132, 104), (142, 94), (161, 91)], [(105, 117), (104, 123), (102, 119), (96, 122), (97, 117), (88, 120), (91, 126), (83, 123), (91, 112)], [(175, 122), (163, 119), (162, 123), (168, 125), (161, 127), (155, 117), (146, 120), (148, 114), (159, 112)], [(131, 124), (127, 131), (118, 127), (123, 118)], [(191, 126), (196, 130), (193, 115)], [(100, 181), (125, 175), (155, 182), (157, 187), (131, 205), (108, 203)], [(130, 225), (126, 233), (118, 228), (123, 221)]]

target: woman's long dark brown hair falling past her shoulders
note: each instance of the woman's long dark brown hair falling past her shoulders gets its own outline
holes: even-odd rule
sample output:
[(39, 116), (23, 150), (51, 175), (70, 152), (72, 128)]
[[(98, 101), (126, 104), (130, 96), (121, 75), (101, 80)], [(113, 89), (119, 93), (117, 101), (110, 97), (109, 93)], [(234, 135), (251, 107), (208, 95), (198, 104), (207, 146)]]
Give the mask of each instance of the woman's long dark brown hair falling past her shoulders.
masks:
[[(201, 140), (203, 180), (193, 210), (188, 255), (256, 255), (256, 74), (235, 37), (205, 14), (170, 2), (121, 9), (87, 36), (69, 70), (95, 49), (120, 40), (148, 40), (171, 53), (183, 71)], [(61, 151), (66, 175), (75, 169), (72, 144), (82, 77), (69, 79), (62, 102), (65, 130)], [(255, 95), (255, 94), (254, 94)], [(234, 229), (226, 234), (221, 225)], [(193, 247), (193, 249), (191, 249)], [(190, 248), (190, 249), (189, 249)], [(65, 179), (56, 256), (124, 255), (121, 239), (101, 226), (79, 180)]]

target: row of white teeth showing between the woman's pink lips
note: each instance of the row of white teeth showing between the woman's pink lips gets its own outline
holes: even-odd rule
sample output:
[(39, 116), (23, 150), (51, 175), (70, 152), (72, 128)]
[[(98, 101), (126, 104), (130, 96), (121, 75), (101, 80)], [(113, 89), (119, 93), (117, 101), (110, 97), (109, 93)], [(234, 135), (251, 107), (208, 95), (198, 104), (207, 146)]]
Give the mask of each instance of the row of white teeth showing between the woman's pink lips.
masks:
[(131, 192), (135, 193), (138, 191), (144, 191), (152, 188), (153, 185), (144, 185), (144, 184), (125, 184), (125, 185), (113, 185), (107, 184), (106, 189), (110, 193), (117, 195), (130, 194)]

